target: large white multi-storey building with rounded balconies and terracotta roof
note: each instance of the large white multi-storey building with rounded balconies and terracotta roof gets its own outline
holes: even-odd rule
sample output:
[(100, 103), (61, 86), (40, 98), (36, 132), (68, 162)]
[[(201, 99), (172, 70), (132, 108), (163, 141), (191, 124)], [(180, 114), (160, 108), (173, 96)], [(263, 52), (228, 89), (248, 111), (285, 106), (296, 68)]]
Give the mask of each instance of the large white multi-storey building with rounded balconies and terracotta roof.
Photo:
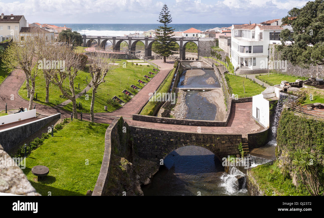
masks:
[(238, 73), (268, 72), (269, 44), (281, 44), (281, 26), (232, 25), (231, 57)]

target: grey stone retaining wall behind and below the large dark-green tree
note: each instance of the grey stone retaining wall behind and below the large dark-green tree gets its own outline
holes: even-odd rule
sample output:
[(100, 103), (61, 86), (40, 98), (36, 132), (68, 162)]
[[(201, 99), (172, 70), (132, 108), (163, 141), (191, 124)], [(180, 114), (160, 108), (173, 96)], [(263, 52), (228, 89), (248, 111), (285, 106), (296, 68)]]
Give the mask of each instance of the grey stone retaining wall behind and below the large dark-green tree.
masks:
[[(280, 53), (277, 52), (276, 46), (273, 44), (269, 45), (269, 61), (279, 60)], [(316, 77), (316, 72), (318, 71), (319, 77), (324, 78), (324, 66), (313, 66), (311, 65), (309, 69), (301, 68), (300, 66), (293, 65), (287, 61), (287, 70), (284, 72), (282, 69), (274, 69), (282, 74), (292, 75), (292, 76), (303, 76), (303, 77)], [(292, 81), (288, 81), (292, 82)]]

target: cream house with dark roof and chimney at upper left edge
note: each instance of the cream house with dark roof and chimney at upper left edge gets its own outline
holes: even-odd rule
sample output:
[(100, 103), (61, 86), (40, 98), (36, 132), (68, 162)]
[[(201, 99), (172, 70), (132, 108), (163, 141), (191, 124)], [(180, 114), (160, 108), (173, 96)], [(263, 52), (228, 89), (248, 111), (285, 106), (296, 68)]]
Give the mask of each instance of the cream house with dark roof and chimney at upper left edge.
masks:
[(24, 15), (4, 15), (0, 18), (0, 40), (18, 39), (22, 27), (27, 27)]

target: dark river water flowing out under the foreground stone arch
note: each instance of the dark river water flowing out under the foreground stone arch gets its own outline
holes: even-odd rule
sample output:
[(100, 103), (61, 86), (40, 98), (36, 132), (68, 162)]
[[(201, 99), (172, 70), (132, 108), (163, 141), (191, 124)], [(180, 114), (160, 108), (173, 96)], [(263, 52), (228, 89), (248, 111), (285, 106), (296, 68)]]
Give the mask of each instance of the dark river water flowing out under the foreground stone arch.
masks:
[(211, 151), (189, 145), (171, 152), (142, 190), (148, 196), (249, 195), (245, 188), (238, 190), (234, 176)]

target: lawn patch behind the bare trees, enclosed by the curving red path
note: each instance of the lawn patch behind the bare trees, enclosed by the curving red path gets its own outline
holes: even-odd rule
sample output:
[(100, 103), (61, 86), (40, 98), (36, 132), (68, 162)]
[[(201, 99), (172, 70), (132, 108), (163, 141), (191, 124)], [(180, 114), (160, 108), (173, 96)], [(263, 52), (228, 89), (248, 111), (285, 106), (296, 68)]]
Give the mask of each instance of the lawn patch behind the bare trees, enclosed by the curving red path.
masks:
[[(89, 73), (85, 72), (85, 71), (79, 71), (77, 73), (78, 75), (75, 77), (74, 80), (74, 86), (75, 86), (75, 92), (79, 93), (80, 91), (82, 91), (90, 82), (91, 80), (91, 76)], [(86, 81), (86, 78), (88, 76), (88, 79)], [(78, 83), (80, 83), (80, 89), (78, 89)], [(48, 105), (48, 106), (56, 106), (64, 101), (67, 100), (67, 98), (61, 98), (60, 96), (62, 96), (62, 92), (59, 89), (58, 86), (54, 85), (54, 84), (50, 84), (50, 95), (49, 95), (49, 103), (45, 103), (45, 79), (43, 77), (43, 75), (40, 73), (39, 76), (36, 77), (36, 82), (35, 82), (35, 98), (36, 98), (36, 93), (37, 93), (37, 99), (39, 100), (34, 100), (34, 102), (40, 103), (40, 104), (44, 104), (44, 105)], [(63, 83), (64, 87), (66, 90), (70, 90), (69, 87), (69, 79), (67, 78), (65, 80), (65, 82)], [(26, 89), (26, 81), (24, 82), (24, 84), (21, 86), (21, 88), (18, 91), (19, 95), (26, 99), (29, 100), (29, 98), (27, 98), (27, 89)], [(69, 91), (69, 93), (71, 93)]]

